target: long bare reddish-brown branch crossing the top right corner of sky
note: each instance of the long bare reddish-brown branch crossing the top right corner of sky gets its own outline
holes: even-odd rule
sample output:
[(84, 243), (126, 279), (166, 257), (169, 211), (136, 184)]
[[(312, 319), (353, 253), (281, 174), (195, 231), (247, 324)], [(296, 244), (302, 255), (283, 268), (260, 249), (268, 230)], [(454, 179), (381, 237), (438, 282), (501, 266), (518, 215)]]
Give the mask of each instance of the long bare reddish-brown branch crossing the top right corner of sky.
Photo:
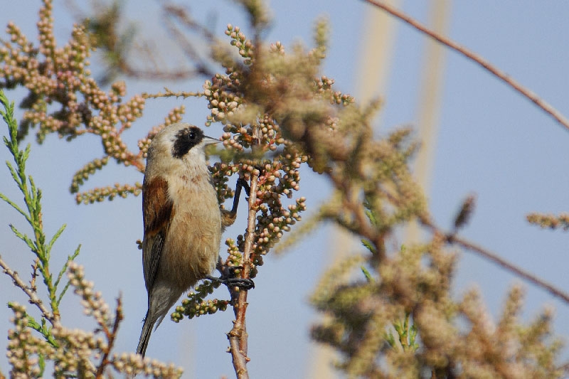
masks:
[(563, 116), (563, 114), (561, 114), (558, 110), (555, 110), (554, 107), (549, 105), (547, 102), (543, 101), (540, 97), (538, 97), (538, 95), (531, 92), (531, 90), (528, 90), (528, 88), (523, 87), (523, 85), (521, 85), (519, 82), (516, 82), (516, 80), (510, 78), (509, 75), (507, 75), (506, 73), (503, 73), (501, 70), (494, 67), (494, 65), (491, 65), (491, 63), (489, 63), (487, 60), (484, 60), (484, 58), (482, 58), (481, 56), (479, 56), (475, 53), (472, 53), (472, 51), (467, 50), (467, 48), (464, 48), (463, 46), (460, 46), (458, 43), (455, 43), (454, 41), (450, 40), (450, 38), (442, 36), (441, 34), (436, 33), (435, 31), (432, 31), (425, 26), (422, 26), (414, 18), (407, 16), (406, 14), (404, 14), (401, 11), (398, 11), (397, 9), (393, 8), (392, 6), (389, 6), (384, 1), (381, 1), (381, 0), (363, 0), (363, 1), (366, 1), (366, 3), (368, 3), (368, 4), (371, 4), (373, 6), (377, 6), (380, 9), (383, 9), (383, 11), (386, 11), (391, 16), (399, 18), (401, 21), (408, 23), (410, 26), (413, 26), (413, 28), (417, 29), (421, 33), (425, 33), (427, 36), (430, 36), (431, 38), (442, 43), (443, 45), (447, 46), (448, 48), (451, 48), (452, 50), (456, 51), (457, 53), (464, 55), (466, 58), (468, 58), (469, 60), (472, 60), (474, 63), (477, 63), (478, 65), (482, 66), (482, 68), (489, 71), (489, 73), (496, 76), (496, 78), (501, 79), (507, 85), (514, 88), (514, 90), (519, 92), (523, 97), (527, 97), (529, 100), (531, 100), (533, 103), (535, 103), (538, 107), (540, 107), (541, 110), (548, 113), (551, 117), (553, 117), (553, 119), (555, 119), (555, 121), (557, 121), (559, 124), (561, 124), (563, 127), (565, 127), (565, 129), (569, 130), (569, 120), (566, 119)]

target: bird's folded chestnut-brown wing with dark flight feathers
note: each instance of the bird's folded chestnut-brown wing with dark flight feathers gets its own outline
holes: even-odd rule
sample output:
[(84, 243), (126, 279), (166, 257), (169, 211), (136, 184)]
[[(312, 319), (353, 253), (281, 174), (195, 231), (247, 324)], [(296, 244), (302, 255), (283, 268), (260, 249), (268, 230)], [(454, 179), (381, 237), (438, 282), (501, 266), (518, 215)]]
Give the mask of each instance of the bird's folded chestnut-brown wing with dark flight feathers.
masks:
[(142, 210), (144, 212), (144, 242), (142, 244), (142, 266), (144, 282), (150, 292), (156, 277), (158, 262), (171, 217), (174, 215), (173, 203), (168, 196), (168, 182), (155, 178), (144, 186)]

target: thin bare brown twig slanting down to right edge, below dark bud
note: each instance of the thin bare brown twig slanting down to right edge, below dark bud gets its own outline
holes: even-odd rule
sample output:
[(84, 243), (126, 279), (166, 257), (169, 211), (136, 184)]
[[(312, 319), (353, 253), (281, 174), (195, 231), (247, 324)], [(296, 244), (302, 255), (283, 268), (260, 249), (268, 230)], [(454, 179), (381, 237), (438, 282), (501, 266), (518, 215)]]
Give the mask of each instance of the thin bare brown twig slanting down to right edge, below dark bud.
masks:
[(520, 267), (517, 267), (513, 263), (508, 262), (508, 261), (504, 260), (503, 258), (499, 257), (498, 255), (494, 254), (494, 252), (490, 252), (489, 250), (484, 249), (484, 247), (478, 246), (478, 245), (474, 244), (473, 242), (469, 242), (468, 240), (465, 240), (462, 237), (457, 237), (454, 234), (444, 233), (440, 228), (437, 228), (437, 226), (435, 224), (433, 224), (432, 221), (427, 219), (425, 216), (420, 218), (420, 222), (423, 225), (425, 225), (427, 228), (429, 228), (432, 231), (432, 233), (440, 233), (441, 235), (446, 235), (447, 236), (447, 242), (455, 243), (455, 244), (463, 247), (464, 249), (470, 250), (472, 252), (476, 252), (481, 257), (486, 258), (486, 260), (490, 260), (491, 262), (496, 263), (497, 265), (499, 265), (503, 269), (506, 269), (506, 271), (509, 271), (509, 272), (516, 274), (518, 277), (525, 279), (526, 281), (530, 282), (531, 284), (535, 285), (536, 287), (539, 287), (541, 289), (545, 289), (547, 292), (549, 292), (553, 296), (558, 297), (561, 300), (565, 301), (565, 303), (569, 304), (569, 294), (563, 292), (560, 289), (553, 287), (552, 284), (549, 284), (549, 283), (545, 282), (543, 279), (536, 277), (536, 275), (531, 274), (531, 272), (527, 272), (526, 270), (521, 269)]

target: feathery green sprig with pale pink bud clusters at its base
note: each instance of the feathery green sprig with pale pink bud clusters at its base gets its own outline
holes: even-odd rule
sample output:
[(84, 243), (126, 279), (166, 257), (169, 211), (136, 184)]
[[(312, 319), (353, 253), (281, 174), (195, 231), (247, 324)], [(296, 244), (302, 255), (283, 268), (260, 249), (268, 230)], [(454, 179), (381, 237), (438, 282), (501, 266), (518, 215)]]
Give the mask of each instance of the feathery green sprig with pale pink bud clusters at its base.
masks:
[[(18, 211), (31, 227), (32, 235), (18, 230), (14, 225), (11, 230), (22, 240), (33, 253), (33, 272), (29, 284), (23, 282), (21, 277), (10, 269), (9, 265), (0, 257), (0, 267), (28, 297), (31, 304), (40, 311), (39, 319), (26, 310), (24, 306), (9, 301), (9, 308), (14, 311), (14, 329), (8, 333), (8, 359), (11, 364), (11, 377), (35, 378), (45, 375), (46, 362), (53, 362), (53, 375), (56, 377), (95, 378), (102, 377), (110, 368), (118, 373), (146, 373), (159, 378), (179, 378), (181, 370), (172, 365), (157, 362), (142, 362), (142, 358), (131, 356), (111, 356), (111, 351), (122, 320), (122, 305), (117, 301), (115, 314), (95, 292), (93, 284), (85, 280), (83, 269), (76, 265), (74, 260), (79, 254), (78, 247), (72, 255), (68, 256), (60, 269), (53, 271), (50, 259), (53, 246), (63, 233), (65, 225), (61, 226), (51, 238), (47, 238), (43, 230), (43, 213), (41, 208), (41, 190), (34, 183), (31, 176), (26, 175), (26, 161), (30, 155), (31, 147), (25, 149), (18, 145), (18, 124), (14, 119), (14, 103), (10, 103), (0, 90), (0, 105), (4, 110), (0, 114), (8, 125), (9, 137), (4, 137), (4, 144), (14, 157), (14, 165), (6, 162), (6, 166), (18, 189), (23, 194), (24, 206), (18, 205), (4, 193), (0, 199)], [(19, 259), (24, 259), (21, 255)], [(62, 282), (68, 272), (69, 280)], [(40, 277), (46, 287), (47, 300), (38, 296), (36, 279)], [(97, 329), (92, 332), (66, 329), (60, 323), (59, 305), (69, 287), (73, 287), (75, 294), (82, 298), (85, 314), (92, 316)], [(38, 335), (32, 331), (38, 332)], [(103, 339), (103, 338), (105, 339)], [(95, 361), (99, 363), (95, 363)], [(4, 376), (0, 373), (0, 377)]]

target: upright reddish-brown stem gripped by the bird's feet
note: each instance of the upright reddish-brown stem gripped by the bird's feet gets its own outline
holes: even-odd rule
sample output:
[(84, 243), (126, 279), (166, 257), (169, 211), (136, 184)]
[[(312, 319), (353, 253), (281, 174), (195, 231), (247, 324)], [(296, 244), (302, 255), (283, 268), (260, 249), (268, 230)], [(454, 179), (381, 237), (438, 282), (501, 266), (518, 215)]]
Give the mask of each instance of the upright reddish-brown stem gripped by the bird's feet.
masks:
[[(257, 215), (257, 181), (259, 172), (253, 171), (250, 183), (249, 194), (249, 214), (247, 224), (247, 235), (245, 236), (245, 246), (243, 248), (243, 270), (241, 277), (249, 279), (251, 271), (251, 252), (253, 250), (253, 240), (255, 238), (255, 220)], [(245, 324), (245, 312), (247, 311), (247, 294), (244, 289), (240, 289), (237, 294), (237, 302), (233, 307), (235, 311), (235, 321), (233, 321), (233, 329), (228, 333), (230, 353), (233, 359), (233, 368), (238, 379), (248, 379), (249, 373), (247, 363), (249, 358), (248, 351), (248, 334)]]

